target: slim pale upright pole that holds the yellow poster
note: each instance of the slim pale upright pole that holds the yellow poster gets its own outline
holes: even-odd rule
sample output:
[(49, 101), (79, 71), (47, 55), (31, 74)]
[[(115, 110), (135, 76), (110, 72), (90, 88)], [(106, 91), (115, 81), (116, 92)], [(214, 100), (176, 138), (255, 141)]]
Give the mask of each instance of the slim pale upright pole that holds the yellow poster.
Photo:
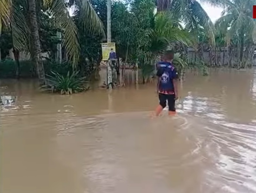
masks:
[[(107, 0), (107, 42), (111, 42), (111, 0)], [(110, 61), (108, 61), (108, 88), (112, 89), (112, 69), (110, 66)]]

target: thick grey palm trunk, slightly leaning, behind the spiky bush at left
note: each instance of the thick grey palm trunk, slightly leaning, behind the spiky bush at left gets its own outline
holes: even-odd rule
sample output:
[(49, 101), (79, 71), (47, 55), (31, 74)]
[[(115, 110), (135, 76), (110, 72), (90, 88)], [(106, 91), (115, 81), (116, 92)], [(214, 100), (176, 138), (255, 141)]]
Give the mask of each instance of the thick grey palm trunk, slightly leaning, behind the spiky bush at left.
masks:
[(36, 65), (37, 75), (39, 78), (40, 85), (46, 83), (45, 80), (45, 73), (43, 68), (43, 61), (41, 55), (41, 45), (40, 45), (40, 38), (38, 32), (38, 24), (37, 24), (37, 16), (36, 16), (36, 2), (35, 0), (28, 0), (29, 6), (29, 20), (30, 20), (30, 29), (31, 29), (31, 36), (32, 36), (32, 44), (33, 44), (33, 54), (32, 59)]

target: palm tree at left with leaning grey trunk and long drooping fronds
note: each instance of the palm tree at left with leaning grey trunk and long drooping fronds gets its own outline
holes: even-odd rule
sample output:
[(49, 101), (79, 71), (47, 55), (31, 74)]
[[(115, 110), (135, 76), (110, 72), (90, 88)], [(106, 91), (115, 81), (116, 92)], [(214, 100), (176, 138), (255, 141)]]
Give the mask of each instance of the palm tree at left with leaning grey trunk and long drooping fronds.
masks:
[[(2, 7), (2, 5), (4, 5)], [(90, 32), (104, 33), (103, 25), (87, 0), (0, 0), (1, 21), (9, 21), (12, 25), (14, 44), (18, 49), (27, 49), (30, 41), (30, 53), (37, 67), (40, 84), (45, 83), (45, 74), (41, 58), (41, 45), (39, 37), (39, 24), (37, 12), (47, 10), (54, 23), (64, 30), (63, 43), (66, 54), (75, 68), (79, 60), (79, 44), (77, 27), (69, 15), (69, 6), (79, 10), (79, 24)], [(4, 12), (1, 11), (4, 10)], [(29, 28), (28, 28), (29, 26)], [(28, 34), (31, 37), (28, 37)], [(24, 43), (26, 42), (26, 43)]]

